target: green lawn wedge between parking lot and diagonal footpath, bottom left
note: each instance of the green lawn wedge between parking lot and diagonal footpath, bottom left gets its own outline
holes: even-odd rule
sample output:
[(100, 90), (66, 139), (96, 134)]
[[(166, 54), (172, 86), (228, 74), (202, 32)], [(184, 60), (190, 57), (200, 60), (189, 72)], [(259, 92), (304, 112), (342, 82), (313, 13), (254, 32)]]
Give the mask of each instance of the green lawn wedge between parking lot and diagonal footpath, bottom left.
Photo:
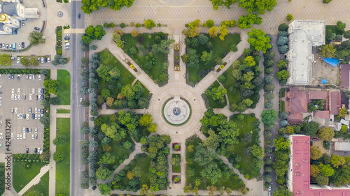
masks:
[(13, 188), (20, 192), (40, 172), (43, 163), (13, 162)]

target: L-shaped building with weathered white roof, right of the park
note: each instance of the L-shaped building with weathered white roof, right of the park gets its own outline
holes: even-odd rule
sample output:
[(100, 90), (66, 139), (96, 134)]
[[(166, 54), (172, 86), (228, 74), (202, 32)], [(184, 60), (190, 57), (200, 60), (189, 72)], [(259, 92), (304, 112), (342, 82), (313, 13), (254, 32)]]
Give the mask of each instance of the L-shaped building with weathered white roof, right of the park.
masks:
[(287, 84), (311, 84), (312, 47), (325, 44), (325, 21), (294, 20), (289, 24), (289, 51), (286, 53), (290, 77)]

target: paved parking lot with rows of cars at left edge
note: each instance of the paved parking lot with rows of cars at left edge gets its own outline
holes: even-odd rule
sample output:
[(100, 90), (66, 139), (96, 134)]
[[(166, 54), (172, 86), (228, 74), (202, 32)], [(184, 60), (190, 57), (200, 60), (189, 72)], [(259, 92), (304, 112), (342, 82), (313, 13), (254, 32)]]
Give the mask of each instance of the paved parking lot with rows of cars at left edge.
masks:
[[(34, 153), (35, 148), (40, 148), (42, 151), (43, 124), (40, 123), (39, 118), (41, 117), (41, 109), (43, 109), (40, 97), (43, 95), (41, 89), (43, 88), (44, 76), (40, 75), (41, 80), (39, 80), (39, 75), (31, 75), (31, 80), (26, 79), (27, 75), (12, 76), (13, 79), (8, 79), (9, 75), (0, 76), (0, 115), (2, 115), (0, 119), (0, 144), (2, 144), (0, 153), (7, 152), (5, 129), (8, 127), (6, 127), (6, 120), (10, 120), (10, 133), (13, 137), (10, 139), (10, 152), (26, 153), (27, 148), (29, 148), (29, 153)], [(18, 80), (18, 76), (20, 76), (20, 80)], [(38, 96), (38, 100), (36, 100), (36, 96)], [(32, 119), (32, 114), (34, 114), (34, 119)], [(3, 135), (2, 139), (1, 134)]]

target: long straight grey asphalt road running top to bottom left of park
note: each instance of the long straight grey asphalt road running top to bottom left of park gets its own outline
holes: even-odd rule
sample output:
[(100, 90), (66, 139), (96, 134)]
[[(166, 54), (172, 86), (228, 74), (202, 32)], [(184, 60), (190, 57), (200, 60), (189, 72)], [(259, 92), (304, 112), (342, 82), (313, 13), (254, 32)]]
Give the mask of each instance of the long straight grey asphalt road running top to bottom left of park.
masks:
[[(85, 14), (80, 10), (81, 1), (71, 1), (71, 27), (85, 29)], [(78, 18), (80, 13), (80, 18)], [(80, 47), (81, 34), (71, 35), (71, 194), (83, 195), (80, 188), (80, 175), (83, 165), (80, 163), (81, 149), (79, 140), (83, 140), (80, 125), (84, 121), (84, 107), (80, 105), (80, 64), (84, 52)]]

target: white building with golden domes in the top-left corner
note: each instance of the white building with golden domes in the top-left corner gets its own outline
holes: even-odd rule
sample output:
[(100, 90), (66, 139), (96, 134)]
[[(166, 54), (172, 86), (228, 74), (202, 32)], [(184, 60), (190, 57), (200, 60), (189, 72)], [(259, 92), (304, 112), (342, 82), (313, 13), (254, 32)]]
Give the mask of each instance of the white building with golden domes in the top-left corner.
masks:
[(0, 35), (12, 34), (21, 20), (38, 17), (38, 8), (26, 8), (19, 0), (0, 0)]

